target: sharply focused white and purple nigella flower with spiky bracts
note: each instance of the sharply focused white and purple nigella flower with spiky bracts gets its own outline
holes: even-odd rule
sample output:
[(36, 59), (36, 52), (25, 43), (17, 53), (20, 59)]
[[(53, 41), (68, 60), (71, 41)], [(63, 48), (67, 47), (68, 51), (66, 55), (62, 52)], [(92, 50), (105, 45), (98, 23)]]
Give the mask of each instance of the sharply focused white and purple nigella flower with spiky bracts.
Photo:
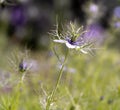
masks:
[(92, 42), (86, 41), (84, 39), (84, 34), (87, 32), (83, 30), (83, 26), (77, 27), (76, 24), (70, 22), (70, 24), (60, 34), (58, 34), (57, 30), (53, 31), (52, 35), (57, 37), (53, 41), (56, 43), (63, 43), (69, 49), (79, 50), (84, 54), (87, 54), (90, 51), (90, 47), (92, 46)]

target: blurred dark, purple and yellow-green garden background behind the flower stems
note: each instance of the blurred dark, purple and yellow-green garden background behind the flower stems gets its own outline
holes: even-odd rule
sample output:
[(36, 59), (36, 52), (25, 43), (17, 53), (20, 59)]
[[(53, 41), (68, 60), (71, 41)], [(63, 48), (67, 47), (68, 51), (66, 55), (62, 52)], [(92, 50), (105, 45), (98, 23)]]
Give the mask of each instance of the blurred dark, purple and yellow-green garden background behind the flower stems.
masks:
[[(120, 0), (0, 0), (0, 107), (9, 105), (7, 95), (16, 93), (22, 58), (25, 68), (32, 68), (18, 90), (22, 95), (16, 110), (40, 110), (42, 102), (45, 106), (43, 92), (52, 91), (61, 68), (48, 34), (56, 18), (65, 25), (83, 25), (89, 30), (85, 37), (95, 38), (100, 48), (93, 56), (71, 52), (55, 94), (56, 110), (80, 110), (74, 109), (71, 96), (81, 110), (120, 110)], [(63, 61), (60, 46), (55, 49)]]

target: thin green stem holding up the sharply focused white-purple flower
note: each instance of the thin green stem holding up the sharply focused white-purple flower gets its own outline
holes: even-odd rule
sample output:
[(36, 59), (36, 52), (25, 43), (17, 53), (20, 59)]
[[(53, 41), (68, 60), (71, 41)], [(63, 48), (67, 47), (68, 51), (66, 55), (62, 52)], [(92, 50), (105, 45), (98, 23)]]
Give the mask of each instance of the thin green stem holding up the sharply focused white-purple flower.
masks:
[(55, 88), (53, 89), (52, 93), (50, 94), (48, 100), (47, 100), (47, 105), (46, 105), (46, 110), (49, 110), (50, 109), (50, 105), (52, 103), (52, 100), (53, 100), (53, 97), (57, 91), (57, 88), (59, 86), (59, 83), (60, 83), (60, 80), (61, 80), (61, 77), (62, 77), (62, 73), (63, 73), (63, 68), (65, 66), (65, 63), (66, 63), (66, 60), (67, 60), (67, 57), (68, 57), (68, 53), (69, 53), (69, 50), (67, 50), (67, 53), (65, 55), (65, 59), (64, 59), (64, 62), (62, 64), (62, 67), (59, 71), (59, 76), (58, 76), (58, 79), (57, 79), (57, 82), (56, 82), (56, 85), (55, 85)]

